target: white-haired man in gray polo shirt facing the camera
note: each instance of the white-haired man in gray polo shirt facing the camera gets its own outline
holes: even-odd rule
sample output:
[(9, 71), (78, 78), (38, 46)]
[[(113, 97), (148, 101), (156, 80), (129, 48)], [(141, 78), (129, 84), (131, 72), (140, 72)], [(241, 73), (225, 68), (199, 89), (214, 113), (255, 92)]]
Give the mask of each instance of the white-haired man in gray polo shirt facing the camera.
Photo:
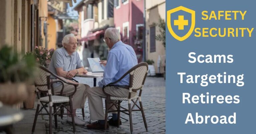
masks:
[[(66, 35), (62, 40), (62, 45), (62, 48), (55, 50), (53, 53), (48, 69), (58, 76), (64, 77), (68, 80), (72, 79), (77, 73), (87, 73), (87, 70), (84, 69), (84, 65), (81, 62), (79, 54), (76, 52), (77, 39), (74, 34)], [(53, 76), (51, 77), (54, 78)], [(54, 83), (53, 87), (55, 93), (60, 93), (62, 84)], [(73, 95), (74, 114), (76, 113), (77, 108), (84, 107), (87, 98), (86, 90), (89, 88), (90, 87), (85, 84), (79, 84), (77, 87), (76, 93)], [(63, 94), (69, 96), (74, 92), (74, 90), (75, 88), (73, 85), (64, 83)], [(67, 122), (72, 122), (71, 115), (67, 116)], [(75, 124), (84, 125), (85, 123), (75, 115)]]

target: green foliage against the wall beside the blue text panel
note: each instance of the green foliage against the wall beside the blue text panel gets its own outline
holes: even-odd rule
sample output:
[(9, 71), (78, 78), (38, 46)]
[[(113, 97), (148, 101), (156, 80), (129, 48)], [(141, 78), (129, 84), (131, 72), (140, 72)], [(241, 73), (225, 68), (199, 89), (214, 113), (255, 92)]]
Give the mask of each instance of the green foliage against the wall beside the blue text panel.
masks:
[(159, 27), (160, 34), (156, 35), (156, 40), (161, 41), (165, 48), (165, 21), (164, 19), (159, 19), (159, 23), (157, 24)]

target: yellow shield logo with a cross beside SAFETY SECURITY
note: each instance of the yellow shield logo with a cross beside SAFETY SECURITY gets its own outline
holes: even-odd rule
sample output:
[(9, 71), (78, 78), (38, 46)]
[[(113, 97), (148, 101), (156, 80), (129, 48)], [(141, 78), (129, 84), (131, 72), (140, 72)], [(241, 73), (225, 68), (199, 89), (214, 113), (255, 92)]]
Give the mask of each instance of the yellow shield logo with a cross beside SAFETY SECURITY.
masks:
[[(171, 14), (174, 13), (174, 12), (177, 12), (177, 11), (180, 11), (180, 10), (183, 10), (185, 12), (188, 12), (191, 14), (191, 27), (188, 31), (188, 33), (182, 37), (178, 36), (172, 29), (172, 22), (173, 22), (173, 25), (175, 26), (178, 26), (178, 30), (184, 30), (184, 26), (188, 25), (188, 20), (184, 20), (184, 16), (183, 15), (179, 15), (178, 16), (178, 20), (174, 20), (174, 21), (171, 21)], [(168, 10), (167, 11), (167, 27), (168, 27), (168, 30), (169, 32), (171, 33), (171, 35), (179, 40), (179, 41), (183, 41), (185, 39), (187, 39), (193, 32), (194, 28), (195, 28), (195, 11), (194, 10), (191, 10), (191, 9), (188, 9), (186, 7), (183, 7), (183, 6), (179, 6), (179, 7), (176, 7), (174, 9), (171, 9), (171, 10)]]

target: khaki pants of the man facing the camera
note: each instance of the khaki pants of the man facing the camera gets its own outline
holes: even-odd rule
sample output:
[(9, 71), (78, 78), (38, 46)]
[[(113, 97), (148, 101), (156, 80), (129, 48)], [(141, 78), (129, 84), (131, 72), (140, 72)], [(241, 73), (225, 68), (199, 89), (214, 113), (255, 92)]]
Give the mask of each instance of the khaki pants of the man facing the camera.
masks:
[[(62, 86), (54, 88), (54, 93), (60, 93)], [(79, 84), (76, 88), (76, 92), (73, 95), (73, 109), (84, 108), (84, 104), (87, 98), (87, 90), (90, 86), (86, 84)], [(64, 83), (63, 94), (66, 96), (71, 95), (75, 90), (75, 86)]]

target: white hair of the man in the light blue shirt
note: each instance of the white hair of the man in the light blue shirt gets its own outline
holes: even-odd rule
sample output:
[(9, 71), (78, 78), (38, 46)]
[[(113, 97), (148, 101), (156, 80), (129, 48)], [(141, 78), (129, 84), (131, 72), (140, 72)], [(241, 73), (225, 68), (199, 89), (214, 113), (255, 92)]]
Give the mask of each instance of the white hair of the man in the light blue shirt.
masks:
[(121, 40), (121, 35), (116, 28), (110, 27), (105, 31), (105, 38), (110, 38), (112, 43), (116, 43)]

